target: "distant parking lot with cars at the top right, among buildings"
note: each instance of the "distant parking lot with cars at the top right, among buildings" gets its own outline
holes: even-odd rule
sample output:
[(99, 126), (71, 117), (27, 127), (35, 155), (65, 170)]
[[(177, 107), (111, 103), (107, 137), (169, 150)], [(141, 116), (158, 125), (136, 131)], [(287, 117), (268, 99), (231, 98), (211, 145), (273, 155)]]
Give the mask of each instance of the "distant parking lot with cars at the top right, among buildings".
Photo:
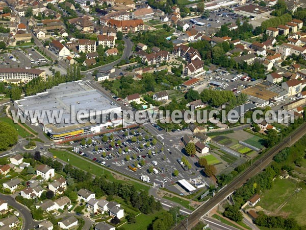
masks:
[(210, 12), (209, 18), (201, 18), (196, 17), (194, 18), (198, 22), (202, 22), (205, 25), (198, 26), (194, 25), (190, 22), (189, 19), (186, 19), (185, 22), (187, 22), (190, 26), (193, 26), (195, 29), (197, 29), (200, 32), (211, 34), (212, 32), (216, 32), (218, 28), (221, 28), (224, 24), (230, 24), (233, 22), (236, 22), (237, 18), (240, 18), (242, 21), (243, 17), (241, 15), (235, 14), (230, 12), (228, 9), (220, 9), (217, 10), (217, 12), (212, 11)]

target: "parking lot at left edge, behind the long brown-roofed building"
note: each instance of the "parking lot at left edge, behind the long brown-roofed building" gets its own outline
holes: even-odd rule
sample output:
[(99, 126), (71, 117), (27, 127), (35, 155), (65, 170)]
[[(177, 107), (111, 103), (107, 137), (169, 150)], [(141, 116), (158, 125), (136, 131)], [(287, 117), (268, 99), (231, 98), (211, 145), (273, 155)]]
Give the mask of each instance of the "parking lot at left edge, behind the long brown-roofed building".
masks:
[[(12, 50), (11, 52), (0, 54), (1, 58), (1, 66), (5, 68), (25, 68), (31, 66), (40, 66), (48, 63), (49, 61), (39, 61), (39, 59), (46, 59), (40, 53), (38, 53), (34, 49), (25, 49), (22, 51), (21, 49)], [(37, 61), (37, 63), (33, 63), (32, 61)]]

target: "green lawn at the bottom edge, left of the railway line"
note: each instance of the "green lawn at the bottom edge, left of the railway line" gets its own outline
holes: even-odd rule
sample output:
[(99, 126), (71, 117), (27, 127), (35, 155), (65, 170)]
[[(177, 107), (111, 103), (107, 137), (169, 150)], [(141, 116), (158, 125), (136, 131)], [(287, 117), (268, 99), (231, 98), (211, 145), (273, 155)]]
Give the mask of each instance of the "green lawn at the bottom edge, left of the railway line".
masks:
[(155, 220), (157, 217), (162, 216), (164, 211), (152, 213), (145, 215), (141, 213), (136, 217), (136, 222), (133, 224), (125, 223), (122, 225), (122, 227), (119, 227), (120, 229), (133, 229), (133, 230), (143, 230), (148, 229), (149, 225), (152, 223), (153, 220)]

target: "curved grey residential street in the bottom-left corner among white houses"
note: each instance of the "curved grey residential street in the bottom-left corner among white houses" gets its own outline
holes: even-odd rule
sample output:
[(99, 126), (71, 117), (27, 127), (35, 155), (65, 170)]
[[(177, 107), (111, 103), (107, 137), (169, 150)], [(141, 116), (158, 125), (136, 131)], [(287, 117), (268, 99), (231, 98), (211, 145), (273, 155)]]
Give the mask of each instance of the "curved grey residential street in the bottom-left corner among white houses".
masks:
[(0, 199), (7, 201), (8, 205), (12, 206), (14, 209), (16, 209), (19, 212), (23, 220), (22, 229), (29, 230), (35, 228), (40, 222), (33, 220), (32, 215), (28, 210), (28, 208), (25, 208), (21, 204), (17, 203), (13, 197), (9, 195), (0, 194)]

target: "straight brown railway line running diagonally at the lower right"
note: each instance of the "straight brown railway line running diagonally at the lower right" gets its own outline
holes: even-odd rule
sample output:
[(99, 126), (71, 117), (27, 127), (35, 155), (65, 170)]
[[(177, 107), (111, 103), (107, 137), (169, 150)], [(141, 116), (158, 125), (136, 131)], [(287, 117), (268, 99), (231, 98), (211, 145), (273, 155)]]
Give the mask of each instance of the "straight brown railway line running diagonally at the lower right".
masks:
[(232, 193), (237, 188), (241, 187), (249, 178), (261, 172), (273, 159), (280, 150), (285, 147), (291, 146), (296, 141), (300, 139), (306, 133), (306, 124), (301, 125), (293, 133), (291, 133), (283, 142), (272, 147), (265, 155), (253, 163), (246, 171), (237, 176), (226, 188), (219, 191), (213, 198), (211, 198), (205, 204), (199, 206), (190, 216), (188, 217), (188, 228), (187, 220), (182, 221), (179, 225), (174, 227), (175, 230), (191, 229), (199, 219), (206, 215), (210, 210), (212, 210), (219, 202), (225, 199), (228, 194)]

